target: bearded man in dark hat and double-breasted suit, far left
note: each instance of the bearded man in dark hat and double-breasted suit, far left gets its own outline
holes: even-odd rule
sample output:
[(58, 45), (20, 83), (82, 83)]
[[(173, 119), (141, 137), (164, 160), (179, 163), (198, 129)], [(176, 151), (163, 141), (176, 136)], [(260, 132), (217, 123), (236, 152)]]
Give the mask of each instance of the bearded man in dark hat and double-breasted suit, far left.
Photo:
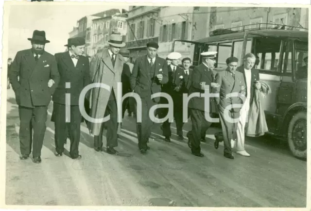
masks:
[[(33, 161), (40, 163), (47, 106), (59, 83), (59, 73), (55, 57), (44, 50), (45, 44), (50, 42), (46, 40), (45, 32), (35, 30), (33, 37), (28, 40), (31, 41), (32, 49), (17, 52), (9, 71), (9, 78), (19, 111), (20, 159), (26, 160), (29, 157), (34, 129)], [(54, 80), (51, 87), (48, 86), (50, 79)]]

